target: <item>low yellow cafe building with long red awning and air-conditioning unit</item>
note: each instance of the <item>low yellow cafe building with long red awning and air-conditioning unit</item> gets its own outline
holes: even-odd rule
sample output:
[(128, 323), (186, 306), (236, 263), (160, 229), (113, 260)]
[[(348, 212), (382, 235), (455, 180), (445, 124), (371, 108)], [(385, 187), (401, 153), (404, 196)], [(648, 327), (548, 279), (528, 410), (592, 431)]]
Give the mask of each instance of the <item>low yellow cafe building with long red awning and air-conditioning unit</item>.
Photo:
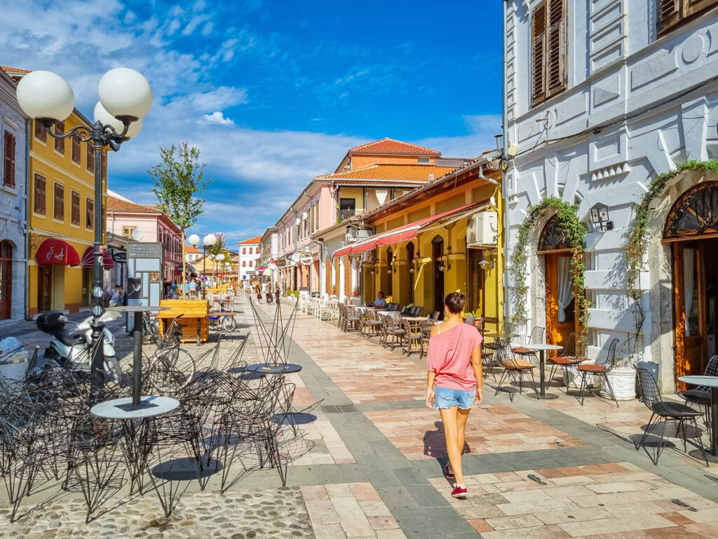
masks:
[(493, 155), (449, 172), (363, 216), (373, 235), (337, 252), (359, 259), (363, 300), (379, 291), (422, 313), (443, 312), (449, 292), (487, 328), (503, 320), (501, 174)]

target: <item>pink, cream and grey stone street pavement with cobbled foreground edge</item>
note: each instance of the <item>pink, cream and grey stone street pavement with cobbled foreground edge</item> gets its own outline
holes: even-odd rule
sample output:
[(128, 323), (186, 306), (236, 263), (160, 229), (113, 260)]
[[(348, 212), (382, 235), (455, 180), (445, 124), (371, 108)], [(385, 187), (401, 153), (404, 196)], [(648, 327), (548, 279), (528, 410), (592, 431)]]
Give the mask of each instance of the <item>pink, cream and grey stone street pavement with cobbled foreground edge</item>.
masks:
[[(220, 361), (249, 331), (244, 360), (261, 361), (247, 302), (240, 298), (240, 328)], [(281, 306), (285, 320), (291, 307)], [(274, 307), (260, 311), (271, 323)], [(212, 346), (186, 347), (198, 357)], [(117, 348), (129, 361), (129, 338)], [(302, 365), (289, 375), (294, 409), (316, 419), (299, 425), (312, 444), (289, 466), (288, 488), (271, 469), (225, 494), (214, 478), (204, 492), (191, 482), (167, 523), (155, 520), (157, 497), (145, 494), (87, 526), (82, 498), (65, 494), (0, 528), (0, 537), (718, 538), (718, 468), (688, 456), (676, 438), (658, 466), (636, 451), (633, 439), (650, 415), (638, 401), (617, 408), (587, 398), (581, 406), (551, 384), (554, 400), (511, 402), (487, 387), (467, 425), (469, 496), (458, 500), (442, 476), (443, 431), (424, 407), (419, 354), (402, 356), (376, 337), (298, 313), (289, 359)]]

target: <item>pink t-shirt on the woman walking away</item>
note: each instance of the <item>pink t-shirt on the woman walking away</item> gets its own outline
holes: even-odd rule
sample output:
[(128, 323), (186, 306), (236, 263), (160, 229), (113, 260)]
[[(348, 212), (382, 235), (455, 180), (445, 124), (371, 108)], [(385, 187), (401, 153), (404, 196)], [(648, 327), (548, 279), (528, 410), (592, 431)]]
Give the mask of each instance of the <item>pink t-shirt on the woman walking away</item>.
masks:
[(449, 390), (475, 390), (476, 377), (471, 366), (471, 355), (482, 340), (481, 333), (466, 323), (460, 323), (446, 333), (441, 332), (430, 338), (426, 369), (437, 373), (434, 385)]

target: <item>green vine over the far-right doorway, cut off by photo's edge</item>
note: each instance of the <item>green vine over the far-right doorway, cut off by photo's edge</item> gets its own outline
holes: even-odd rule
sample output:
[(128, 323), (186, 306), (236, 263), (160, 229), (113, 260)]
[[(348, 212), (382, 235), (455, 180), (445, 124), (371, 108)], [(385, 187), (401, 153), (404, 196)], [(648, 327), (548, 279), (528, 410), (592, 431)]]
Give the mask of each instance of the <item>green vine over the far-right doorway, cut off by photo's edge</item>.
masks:
[[(648, 190), (643, 194), (640, 204), (635, 211), (635, 217), (631, 221), (628, 230), (623, 235), (625, 244), (625, 271), (626, 271), (626, 292), (628, 298), (633, 300), (633, 321), (635, 323), (635, 336), (640, 335), (643, 322), (645, 321), (645, 312), (640, 302), (640, 290), (635, 289), (636, 282), (640, 275), (641, 267), (643, 267), (643, 254), (648, 247), (648, 239), (651, 232), (650, 206), (653, 198), (663, 193), (668, 182), (676, 178), (681, 172), (686, 170), (711, 170), (718, 174), (718, 162), (716, 161), (689, 161), (683, 165), (679, 165), (675, 170), (669, 170), (661, 175), (656, 176), (648, 184)], [(638, 338), (634, 339), (638, 341)]]

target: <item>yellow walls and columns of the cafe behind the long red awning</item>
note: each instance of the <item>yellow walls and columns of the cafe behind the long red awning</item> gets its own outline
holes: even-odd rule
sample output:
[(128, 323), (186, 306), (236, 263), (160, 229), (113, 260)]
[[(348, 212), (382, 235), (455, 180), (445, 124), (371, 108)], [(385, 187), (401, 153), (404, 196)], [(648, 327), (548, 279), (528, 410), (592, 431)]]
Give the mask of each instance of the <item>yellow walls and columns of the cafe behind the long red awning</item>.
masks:
[[(497, 178), (498, 179), (498, 178)], [(494, 196), (498, 208), (494, 208), (499, 212), (499, 222), (501, 218), (500, 204), (500, 188), (497, 185), (486, 183), (484, 180), (474, 180), (470, 183), (460, 186), (452, 190), (444, 191), (426, 201), (422, 201), (416, 206), (397, 211), (391, 215), (384, 216), (374, 223), (377, 231), (385, 231), (395, 229), (403, 224), (410, 224), (419, 218), (430, 215), (436, 215), (443, 211), (449, 211), (454, 208), (460, 208), (465, 204), (477, 201), (483, 201), (490, 196)], [(437, 235), (444, 239), (444, 254), (449, 255), (450, 269), (444, 270), (444, 295), (449, 292), (462, 292), (467, 294), (469, 283), (469, 267), (467, 262), (468, 249), (466, 248), (466, 230), (467, 218), (457, 221), (452, 229), (447, 230), (440, 226), (437, 229), (424, 231), (414, 239), (414, 256), (419, 259), (418, 267), (414, 272), (414, 305), (421, 305), (424, 308), (424, 314), (430, 314), (434, 310), (434, 261), (432, 260), (432, 239)], [(449, 253), (449, 236), (452, 247)], [(386, 292), (386, 284), (388, 275), (386, 274), (386, 250), (391, 247), (393, 257), (396, 264), (396, 272), (391, 274), (393, 301), (401, 305), (409, 302), (409, 268), (406, 266), (406, 245), (408, 241), (391, 246), (382, 246), (376, 252), (376, 267), (378, 267), (379, 279), (365, 270), (365, 300), (372, 300), (376, 297), (376, 292), (383, 290)], [(498, 247), (496, 249), (496, 262), (493, 269), (485, 271), (484, 281), (484, 305), (483, 311), (485, 318), (493, 318), (497, 322), (487, 323), (488, 328), (496, 328), (503, 318), (503, 252), (501, 246), (503, 244), (503, 235), (499, 236)], [(446, 259), (444, 258), (444, 262)], [(370, 270), (370, 268), (369, 268)], [(369, 278), (367, 278), (369, 277)], [(475, 305), (468, 305), (468, 308), (474, 309)]]

